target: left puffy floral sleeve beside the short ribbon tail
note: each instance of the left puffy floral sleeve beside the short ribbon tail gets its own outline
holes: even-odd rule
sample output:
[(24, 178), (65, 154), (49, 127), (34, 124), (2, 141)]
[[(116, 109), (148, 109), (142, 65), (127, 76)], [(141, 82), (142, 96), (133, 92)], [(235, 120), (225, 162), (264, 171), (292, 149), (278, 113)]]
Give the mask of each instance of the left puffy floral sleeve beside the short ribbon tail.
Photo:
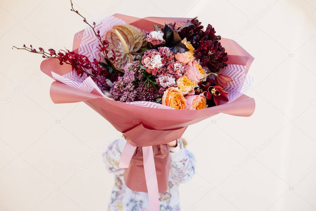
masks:
[(119, 160), (123, 152), (126, 140), (124, 138), (115, 140), (109, 148), (103, 153), (103, 162), (106, 164), (106, 169), (110, 173), (122, 174), (124, 169), (119, 169)]

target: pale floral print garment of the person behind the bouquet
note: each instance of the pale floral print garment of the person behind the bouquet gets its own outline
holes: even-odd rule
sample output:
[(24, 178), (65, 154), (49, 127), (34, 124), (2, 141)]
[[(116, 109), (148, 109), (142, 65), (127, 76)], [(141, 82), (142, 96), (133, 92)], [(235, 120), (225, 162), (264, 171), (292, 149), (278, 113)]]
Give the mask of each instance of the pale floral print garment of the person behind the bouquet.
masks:
[[(109, 202), (108, 211), (148, 211), (148, 193), (136, 192), (129, 189), (124, 182), (124, 169), (119, 169), (119, 160), (123, 152), (126, 140), (121, 138), (103, 154), (106, 168), (115, 176), (115, 184)], [(180, 211), (179, 184), (185, 183), (194, 175), (195, 159), (191, 152), (183, 147), (181, 150), (170, 152), (171, 166), (167, 191), (159, 194), (160, 211)]]

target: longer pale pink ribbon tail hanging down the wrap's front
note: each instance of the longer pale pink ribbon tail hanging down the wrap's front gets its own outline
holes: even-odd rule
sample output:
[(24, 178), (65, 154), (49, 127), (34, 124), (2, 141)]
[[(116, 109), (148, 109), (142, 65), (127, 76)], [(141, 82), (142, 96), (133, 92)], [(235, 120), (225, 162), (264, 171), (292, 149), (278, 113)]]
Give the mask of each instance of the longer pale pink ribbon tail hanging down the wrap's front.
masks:
[(142, 147), (142, 150), (145, 179), (149, 198), (149, 210), (159, 211), (158, 182), (155, 168), (153, 146), (144, 146)]

